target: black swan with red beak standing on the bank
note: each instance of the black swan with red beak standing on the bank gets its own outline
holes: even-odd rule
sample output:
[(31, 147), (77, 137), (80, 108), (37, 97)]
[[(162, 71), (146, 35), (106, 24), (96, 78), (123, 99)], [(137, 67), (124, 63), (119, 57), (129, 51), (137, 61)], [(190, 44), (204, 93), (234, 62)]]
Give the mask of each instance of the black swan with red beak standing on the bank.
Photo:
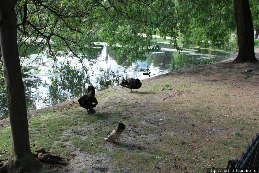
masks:
[[(95, 91), (94, 91), (94, 86), (90, 85), (87, 88), (87, 94), (90, 92), (91, 94), (89, 95), (83, 95), (82, 97), (80, 97), (80, 99), (78, 99), (78, 103), (80, 104), (81, 107), (85, 108), (86, 111), (88, 112), (88, 114), (93, 114), (95, 113), (95, 110), (93, 109), (94, 107), (96, 107), (96, 105), (98, 104), (97, 99), (94, 97)], [(89, 110), (88, 110), (89, 109)]]

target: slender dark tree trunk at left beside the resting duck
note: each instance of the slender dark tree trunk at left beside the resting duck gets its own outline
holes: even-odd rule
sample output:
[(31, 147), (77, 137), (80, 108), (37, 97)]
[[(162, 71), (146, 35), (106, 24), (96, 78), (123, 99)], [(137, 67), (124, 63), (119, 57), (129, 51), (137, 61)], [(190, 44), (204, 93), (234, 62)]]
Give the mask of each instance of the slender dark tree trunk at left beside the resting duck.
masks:
[(17, 18), (14, 12), (16, 2), (0, 1), (0, 45), (12, 129), (12, 153), (0, 168), (0, 173), (38, 172), (40, 166), (31, 153), (29, 143), (24, 86), (17, 45)]

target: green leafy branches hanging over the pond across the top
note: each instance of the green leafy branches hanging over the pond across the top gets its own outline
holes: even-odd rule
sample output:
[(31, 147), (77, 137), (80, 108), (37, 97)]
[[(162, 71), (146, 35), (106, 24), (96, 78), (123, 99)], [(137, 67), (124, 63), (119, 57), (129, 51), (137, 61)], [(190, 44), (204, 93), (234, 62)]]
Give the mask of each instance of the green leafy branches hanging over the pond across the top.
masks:
[[(258, 3), (250, 0), (250, 5), (256, 28)], [(77, 58), (87, 71), (95, 63), (89, 52), (98, 49), (96, 45), (101, 42), (114, 46), (119, 60), (126, 57), (129, 63), (159, 50), (152, 35), (171, 37), (179, 50), (178, 37), (197, 44), (209, 41), (226, 46), (236, 30), (232, 0), (22, 0), (15, 10), (22, 62), (26, 51), (33, 48), (54, 61), (69, 57), (62, 69), (71, 65), (71, 58)], [(39, 61), (41, 55), (34, 61), (44, 65)]]

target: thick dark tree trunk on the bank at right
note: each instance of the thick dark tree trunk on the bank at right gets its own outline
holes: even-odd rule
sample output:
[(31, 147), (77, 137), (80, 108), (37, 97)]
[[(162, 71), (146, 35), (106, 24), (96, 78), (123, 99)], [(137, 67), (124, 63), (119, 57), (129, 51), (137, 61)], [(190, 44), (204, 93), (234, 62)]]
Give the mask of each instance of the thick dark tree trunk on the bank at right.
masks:
[(237, 23), (238, 55), (237, 63), (258, 61), (254, 56), (254, 30), (248, 0), (234, 0)]

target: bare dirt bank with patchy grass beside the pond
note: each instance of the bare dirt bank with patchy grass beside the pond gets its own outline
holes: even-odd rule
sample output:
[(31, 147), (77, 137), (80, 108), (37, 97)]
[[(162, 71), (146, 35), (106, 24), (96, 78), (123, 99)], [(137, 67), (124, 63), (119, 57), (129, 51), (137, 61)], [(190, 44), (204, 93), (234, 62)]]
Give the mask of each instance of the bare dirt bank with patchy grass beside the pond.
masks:
[[(259, 59), (258, 54), (256, 57)], [(67, 163), (43, 164), (44, 172), (206, 172), (207, 168), (226, 168), (228, 160), (240, 157), (259, 130), (259, 64), (232, 61), (150, 77), (134, 93), (122, 86), (98, 92), (93, 115), (79, 107), (78, 98), (29, 112), (29, 123), (35, 116), (41, 121), (52, 116), (77, 121), (66, 129), (60, 126), (62, 142), (49, 142), (47, 148), (58, 151)], [(247, 69), (253, 72), (245, 72)], [(112, 145), (104, 140), (105, 134), (120, 122), (126, 125), (119, 138), (122, 144)], [(3, 126), (8, 126), (7, 119), (0, 122)], [(35, 129), (30, 131), (36, 134)], [(31, 144), (44, 147), (39, 138)]]

